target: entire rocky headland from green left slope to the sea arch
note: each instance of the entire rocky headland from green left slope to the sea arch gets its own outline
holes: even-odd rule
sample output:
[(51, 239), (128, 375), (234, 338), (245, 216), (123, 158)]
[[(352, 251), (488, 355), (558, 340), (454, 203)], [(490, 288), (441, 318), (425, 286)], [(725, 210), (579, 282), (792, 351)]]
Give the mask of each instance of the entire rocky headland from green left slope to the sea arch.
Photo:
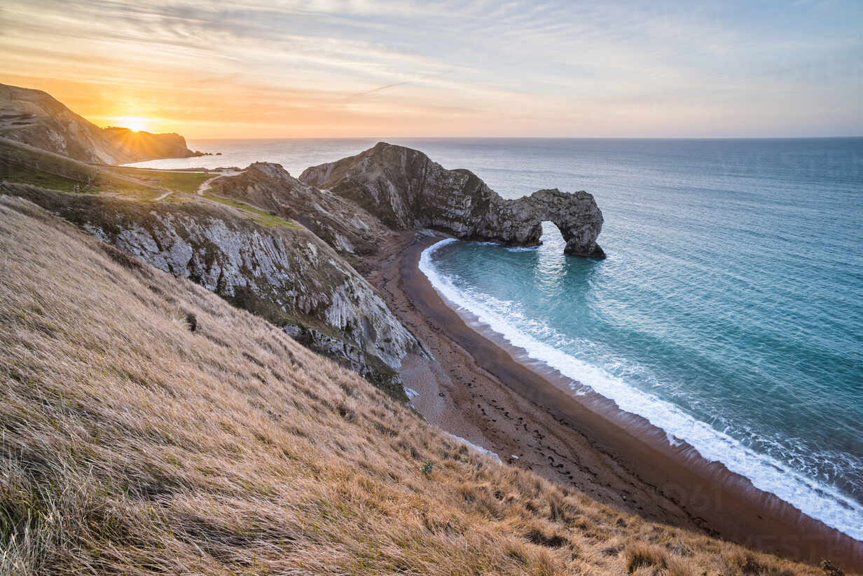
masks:
[[(0, 168), (8, 180), (0, 192), (198, 282), (402, 398), (401, 361), (425, 350), (369, 282), (412, 231), (533, 245), (551, 219), (567, 252), (603, 256), (595, 243), (602, 212), (588, 193), (501, 199), (468, 170), (382, 142), (301, 179), (268, 162), (202, 174), (195, 193), (173, 188), (194, 174), (94, 167), (9, 138), (0, 138)], [(29, 177), (41, 173), (47, 180)]]

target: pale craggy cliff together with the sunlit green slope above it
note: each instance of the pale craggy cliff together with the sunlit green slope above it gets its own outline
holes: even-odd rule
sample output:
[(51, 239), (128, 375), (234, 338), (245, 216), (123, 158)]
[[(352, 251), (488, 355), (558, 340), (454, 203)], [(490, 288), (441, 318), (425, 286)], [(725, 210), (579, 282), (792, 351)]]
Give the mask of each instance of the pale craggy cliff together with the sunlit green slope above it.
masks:
[(406, 399), (397, 370), (406, 353), (421, 350), (419, 342), (305, 226), (203, 189), (230, 180), (221, 174), (93, 167), (0, 138), (0, 194), (30, 199), (156, 268), (198, 282)]

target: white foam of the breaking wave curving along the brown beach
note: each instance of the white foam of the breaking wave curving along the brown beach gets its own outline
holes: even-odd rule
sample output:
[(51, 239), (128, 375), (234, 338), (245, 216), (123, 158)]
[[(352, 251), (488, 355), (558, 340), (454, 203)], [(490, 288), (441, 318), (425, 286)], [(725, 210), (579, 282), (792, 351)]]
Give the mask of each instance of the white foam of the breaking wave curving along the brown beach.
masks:
[[(859, 503), (834, 488), (804, 477), (776, 459), (755, 453), (728, 434), (686, 414), (674, 404), (633, 388), (620, 377), (533, 338), (513, 326), (513, 318), (520, 316), (519, 320), (532, 326), (538, 322), (521, 316), (513, 302), (495, 301), (486, 294), (482, 298), (475, 298), (456, 288), (448, 277), (438, 273), (431, 262), (431, 255), (435, 251), (453, 242), (457, 240), (441, 240), (423, 250), (419, 258), (419, 269), (444, 300), (475, 315), (483, 325), (500, 334), (510, 344), (523, 349), (528, 357), (551, 366), (565, 377), (589, 385), (596, 393), (616, 402), (620, 409), (642, 416), (652, 425), (662, 428), (670, 443), (672, 439), (689, 442), (703, 458), (721, 462), (728, 470), (749, 478), (759, 490), (772, 492), (828, 526), (858, 540), (863, 539), (863, 506)], [(542, 330), (553, 332), (549, 326), (543, 326)]]

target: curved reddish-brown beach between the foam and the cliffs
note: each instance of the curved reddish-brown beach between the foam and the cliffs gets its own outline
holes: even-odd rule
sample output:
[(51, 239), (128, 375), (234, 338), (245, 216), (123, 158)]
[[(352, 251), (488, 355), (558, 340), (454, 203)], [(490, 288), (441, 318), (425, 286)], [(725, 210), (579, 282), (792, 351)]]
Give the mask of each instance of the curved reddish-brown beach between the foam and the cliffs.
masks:
[(664, 430), (611, 400), (572, 396), (570, 378), (444, 301), (419, 269), (422, 251), (444, 237), (412, 231), (369, 279), (435, 355), (431, 362), (406, 358), (402, 370), (420, 393), (413, 405), (426, 420), (646, 520), (863, 570), (863, 542), (703, 459), (689, 444), (671, 446)]

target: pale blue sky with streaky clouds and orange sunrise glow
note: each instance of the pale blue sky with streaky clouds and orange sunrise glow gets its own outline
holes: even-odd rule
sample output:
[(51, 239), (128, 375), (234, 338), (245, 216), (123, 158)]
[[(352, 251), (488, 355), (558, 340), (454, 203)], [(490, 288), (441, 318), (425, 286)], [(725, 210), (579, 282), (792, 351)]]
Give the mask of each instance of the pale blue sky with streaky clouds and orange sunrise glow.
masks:
[(187, 138), (863, 135), (863, 2), (3, 0), (0, 82)]

